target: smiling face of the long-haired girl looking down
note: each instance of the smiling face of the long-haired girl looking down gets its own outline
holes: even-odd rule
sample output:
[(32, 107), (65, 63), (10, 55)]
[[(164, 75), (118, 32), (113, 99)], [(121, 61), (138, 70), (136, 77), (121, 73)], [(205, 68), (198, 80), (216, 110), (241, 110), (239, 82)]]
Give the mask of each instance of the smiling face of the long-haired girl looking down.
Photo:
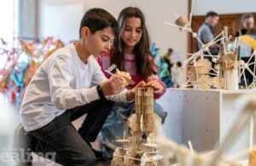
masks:
[(135, 47), (143, 35), (142, 21), (137, 17), (130, 17), (125, 21), (122, 40), (126, 47)]

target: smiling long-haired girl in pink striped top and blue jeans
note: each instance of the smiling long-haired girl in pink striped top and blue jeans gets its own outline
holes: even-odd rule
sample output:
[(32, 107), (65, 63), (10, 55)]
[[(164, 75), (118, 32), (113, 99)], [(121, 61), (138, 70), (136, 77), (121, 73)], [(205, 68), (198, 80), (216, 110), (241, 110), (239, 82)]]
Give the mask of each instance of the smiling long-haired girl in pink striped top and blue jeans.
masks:
[[(111, 65), (116, 65), (120, 71), (129, 72), (134, 85), (145, 82), (154, 88), (154, 99), (160, 98), (166, 92), (166, 84), (161, 82), (156, 74), (153, 56), (150, 53), (150, 39), (145, 24), (143, 12), (140, 9), (128, 7), (123, 9), (118, 19), (119, 31), (113, 41), (113, 49), (102, 55), (99, 63), (102, 71)], [(108, 77), (108, 73), (105, 73)], [(106, 122), (102, 127), (102, 152), (103, 156), (111, 158), (117, 146), (122, 146), (116, 140), (123, 138), (127, 118), (135, 109), (134, 102), (118, 102), (113, 106)], [(166, 112), (154, 103), (154, 112), (157, 113), (164, 123)]]

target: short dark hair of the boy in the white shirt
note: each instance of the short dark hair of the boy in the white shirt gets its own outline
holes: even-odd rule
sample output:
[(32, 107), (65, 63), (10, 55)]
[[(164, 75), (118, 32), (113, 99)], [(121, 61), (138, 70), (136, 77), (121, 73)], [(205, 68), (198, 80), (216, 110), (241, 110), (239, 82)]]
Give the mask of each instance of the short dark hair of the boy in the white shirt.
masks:
[(89, 9), (80, 23), (79, 38), (81, 38), (81, 30), (84, 26), (90, 29), (90, 32), (94, 34), (96, 31), (100, 31), (106, 27), (112, 27), (113, 34), (117, 34), (117, 20), (112, 14), (108, 13), (105, 9)]

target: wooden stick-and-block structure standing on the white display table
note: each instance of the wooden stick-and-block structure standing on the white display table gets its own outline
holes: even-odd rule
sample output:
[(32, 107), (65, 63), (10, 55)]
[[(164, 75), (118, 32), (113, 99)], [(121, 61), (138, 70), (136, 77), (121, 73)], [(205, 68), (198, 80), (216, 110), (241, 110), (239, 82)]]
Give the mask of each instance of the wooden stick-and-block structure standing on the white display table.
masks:
[[(211, 42), (202, 43), (191, 28), (193, 0), (189, 20), (184, 16), (177, 16), (175, 24), (165, 22), (166, 25), (175, 26), (181, 31), (188, 31), (195, 37), (198, 43), (201, 43), (201, 49), (196, 53), (189, 54), (189, 58), (183, 61), (183, 66), (188, 66), (188, 81), (182, 85), (182, 88), (194, 87), (195, 89), (239, 89), (239, 80), (242, 77), (245, 80), (245, 88), (251, 89), (256, 85), (256, 61), (252, 61), (255, 51), (250, 59), (245, 62), (240, 60), (239, 39), (236, 38), (234, 49), (230, 50), (231, 38), (228, 35), (227, 27), (218, 34)], [(209, 47), (214, 43), (221, 43), (218, 55), (212, 55)], [(207, 52), (207, 54), (204, 54)], [(210, 61), (207, 61), (207, 59)], [(209, 63), (211, 64), (210, 70)], [(212, 63), (217, 64), (212, 67)], [(254, 66), (253, 71), (249, 66)], [(247, 83), (245, 71), (249, 72), (253, 77), (253, 83)]]

